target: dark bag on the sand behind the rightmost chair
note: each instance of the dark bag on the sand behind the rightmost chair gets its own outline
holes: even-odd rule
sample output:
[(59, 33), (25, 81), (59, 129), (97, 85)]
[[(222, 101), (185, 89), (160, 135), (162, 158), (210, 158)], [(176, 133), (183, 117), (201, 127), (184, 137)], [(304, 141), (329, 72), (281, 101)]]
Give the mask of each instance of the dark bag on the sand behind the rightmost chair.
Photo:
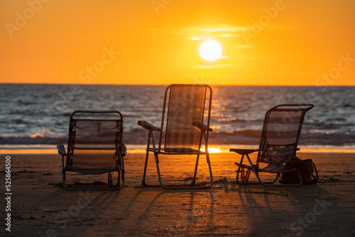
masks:
[[(301, 160), (296, 157), (295, 167), (300, 172), (302, 177), (302, 184), (315, 184), (318, 182), (318, 172), (315, 167), (315, 162), (311, 159)], [(315, 172), (315, 175), (313, 175)], [(297, 184), (300, 182), (298, 179), (297, 171), (285, 172), (281, 175), (280, 183), (283, 184)]]

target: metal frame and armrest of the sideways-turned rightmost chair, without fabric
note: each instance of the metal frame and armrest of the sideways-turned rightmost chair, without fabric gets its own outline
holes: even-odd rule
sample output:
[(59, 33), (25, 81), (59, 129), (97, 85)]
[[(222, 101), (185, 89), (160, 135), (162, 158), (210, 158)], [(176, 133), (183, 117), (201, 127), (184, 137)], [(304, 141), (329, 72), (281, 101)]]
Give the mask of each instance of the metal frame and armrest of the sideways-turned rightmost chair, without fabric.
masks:
[[(289, 109), (281, 109), (281, 107), (290, 107)], [(300, 148), (297, 148), (298, 145), (298, 140), (300, 138), (300, 133), (302, 130), (302, 125), (303, 125), (303, 121), (305, 118), (305, 114), (307, 111), (309, 111), (310, 109), (312, 109), (314, 107), (313, 104), (279, 104), (278, 106), (274, 106), (273, 108), (269, 109), (268, 111), (266, 111), (265, 114), (265, 118), (264, 118), (264, 123), (263, 123), (263, 131), (261, 133), (261, 140), (260, 140), (260, 144), (259, 144), (259, 148), (258, 149), (238, 149), (238, 148), (231, 148), (229, 151), (231, 152), (235, 152), (238, 153), (239, 155), (241, 155), (241, 160), (240, 162), (235, 162), (235, 164), (238, 166), (238, 170), (236, 172), (236, 182), (238, 184), (263, 184), (264, 186), (295, 186), (295, 185), (300, 185), (302, 184), (302, 177), (300, 175), (300, 172), (297, 170), (297, 167), (295, 167), (295, 157), (296, 157), (296, 151), (300, 150)], [(261, 157), (265, 157), (265, 154), (267, 152), (266, 148), (268, 145), (268, 141), (266, 139), (266, 132), (267, 132), (267, 126), (268, 126), (268, 119), (270, 114), (273, 111), (302, 111), (302, 114), (300, 116), (300, 125), (298, 127), (298, 131), (297, 131), (297, 136), (296, 136), (296, 140), (293, 145), (293, 152), (292, 152), (292, 162), (288, 162), (287, 164), (283, 165), (283, 164), (276, 164), (275, 162), (263, 162), (263, 163), (268, 163), (267, 167), (263, 167), (260, 168), (259, 167), (259, 163), (261, 162)], [(285, 145), (290, 145), (290, 144), (285, 144)], [(254, 152), (258, 152), (258, 156), (256, 159), (256, 165), (253, 165), (253, 162), (251, 162), (251, 158), (249, 157), (249, 154), (254, 153)], [(243, 164), (244, 161), (244, 157), (246, 157), (246, 159), (249, 161), (250, 165), (246, 165)], [(272, 169), (268, 170), (268, 167), (271, 167), (271, 164), (275, 164), (280, 166), (280, 170), (276, 170), (273, 171)], [(274, 166), (274, 167), (275, 167)], [(256, 178), (258, 179), (258, 182), (249, 182), (249, 175), (251, 173), (251, 171), (253, 171), (254, 175), (256, 175)], [(291, 171), (296, 171), (297, 172), (297, 176), (300, 180), (300, 182), (296, 183), (296, 184), (275, 184), (276, 180), (278, 180), (278, 178), (280, 177), (280, 174), (282, 174), (283, 172), (291, 172)], [(269, 173), (275, 173), (275, 180), (271, 181), (271, 182), (263, 182), (261, 180), (261, 178), (259, 177), (258, 173), (259, 172), (269, 172)], [(239, 175), (241, 177), (241, 182), (239, 182)]]

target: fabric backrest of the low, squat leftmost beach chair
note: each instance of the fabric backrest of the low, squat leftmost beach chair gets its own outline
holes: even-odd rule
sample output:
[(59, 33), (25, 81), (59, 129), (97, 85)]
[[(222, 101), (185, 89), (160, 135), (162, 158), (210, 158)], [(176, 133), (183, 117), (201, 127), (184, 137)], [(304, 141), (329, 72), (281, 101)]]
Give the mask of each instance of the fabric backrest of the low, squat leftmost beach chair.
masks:
[(74, 150), (115, 150), (122, 144), (123, 116), (119, 111), (81, 111), (70, 115), (68, 153)]

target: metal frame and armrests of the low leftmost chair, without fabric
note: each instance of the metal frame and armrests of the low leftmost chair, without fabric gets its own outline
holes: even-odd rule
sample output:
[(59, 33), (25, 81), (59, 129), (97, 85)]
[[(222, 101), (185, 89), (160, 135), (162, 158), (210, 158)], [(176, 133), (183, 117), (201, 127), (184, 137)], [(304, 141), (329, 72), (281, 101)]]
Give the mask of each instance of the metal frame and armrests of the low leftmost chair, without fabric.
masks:
[[(65, 150), (65, 145), (60, 144), (57, 145), (57, 149), (58, 149), (58, 153), (60, 155), (62, 155), (62, 185), (66, 188), (66, 189), (75, 189), (75, 190), (99, 190), (99, 189), (122, 189), (124, 187), (125, 184), (125, 177), (124, 177), (124, 156), (126, 155), (126, 146), (124, 145), (124, 143), (120, 143), (119, 145), (117, 145), (115, 148), (102, 148), (102, 147), (85, 147), (85, 148), (81, 148), (81, 147), (76, 147), (74, 145), (75, 143), (75, 138), (74, 140), (72, 140), (73, 138), (71, 138), (72, 136), (72, 120), (74, 119), (73, 116), (75, 114), (118, 114), (120, 116), (119, 120), (121, 120), (122, 124), (123, 124), (123, 116), (121, 114), (121, 112), (119, 111), (114, 111), (114, 110), (110, 110), (110, 111), (85, 111), (85, 110), (76, 110), (73, 111), (72, 114), (70, 115), (70, 127), (69, 127), (69, 138), (68, 138), (68, 149), (67, 151)], [(105, 119), (94, 119), (97, 121), (105, 121)], [(116, 139), (118, 138), (118, 136), (122, 137), (122, 133), (123, 133), (123, 126), (121, 126), (120, 128), (120, 132), (116, 133)], [(122, 139), (121, 139), (122, 140)], [(70, 159), (70, 155), (72, 155), (74, 153), (74, 150), (112, 150), (113, 154), (114, 154), (114, 162), (116, 163), (116, 166), (118, 166), (118, 168), (116, 167), (115, 169), (103, 169), (103, 170), (90, 170), (90, 169), (72, 169), (72, 168), (68, 168), (65, 166), (65, 157), (68, 159)], [(67, 161), (66, 160), (66, 161)], [(104, 173), (108, 173), (108, 177), (107, 177), (107, 183), (108, 183), (108, 187), (103, 187), (103, 185), (97, 185), (97, 186), (93, 186), (93, 185), (89, 185), (89, 187), (86, 187), (85, 185), (68, 185), (65, 182), (65, 172), (79, 172), (79, 173), (83, 173), (83, 174), (87, 174), (87, 175), (100, 175), (100, 174), (104, 174)], [(116, 184), (112, 184), (112, 175), (111, 172), (117, 172), (117, 182)], [(122, 180), (122, 184), (120, 184), (120, 180)]]

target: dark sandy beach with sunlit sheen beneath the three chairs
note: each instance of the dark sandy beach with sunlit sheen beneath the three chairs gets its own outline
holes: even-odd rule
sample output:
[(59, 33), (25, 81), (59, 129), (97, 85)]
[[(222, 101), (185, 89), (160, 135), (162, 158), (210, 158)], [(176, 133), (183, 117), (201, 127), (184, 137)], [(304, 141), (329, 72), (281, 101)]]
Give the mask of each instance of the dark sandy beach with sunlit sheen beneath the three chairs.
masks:
[[(214, 186), (195, 190), (141, 187), (145, 154), (129, 153), (126, 187), (119, 191), (63, 188), (60, 155), (8, 155), (11, 232), (4, 225), (2, 198), (1, 236), (355, 236), (354, 153), (298, 153), (314, 160), (320, 181), (296, 187), (238, 185), (234, 162), (239, 156), (213, 153)], [(158, 184), (152, 158), (147, 183)], [(165, 182), (192, 176), (194, 159), (183, 158), (160, 158)], [(205, 163), (201, 158), (199, 182), (208, 181)], [(93, 182), (94, 177), (69, 173), (68, 182)], [(105, 182), (107, 177), (98, 178)], [(2, 190), (6, 193), (4, 185)]]

